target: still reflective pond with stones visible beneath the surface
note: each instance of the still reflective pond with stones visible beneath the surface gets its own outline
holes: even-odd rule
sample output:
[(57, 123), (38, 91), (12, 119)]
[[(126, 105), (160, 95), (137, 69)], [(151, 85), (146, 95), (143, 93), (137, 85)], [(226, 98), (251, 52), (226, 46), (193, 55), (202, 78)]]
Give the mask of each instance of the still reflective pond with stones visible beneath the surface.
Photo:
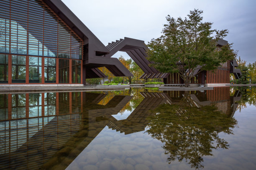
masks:
[(256, 88), (0, 94), (0, 169), (256, 169)]

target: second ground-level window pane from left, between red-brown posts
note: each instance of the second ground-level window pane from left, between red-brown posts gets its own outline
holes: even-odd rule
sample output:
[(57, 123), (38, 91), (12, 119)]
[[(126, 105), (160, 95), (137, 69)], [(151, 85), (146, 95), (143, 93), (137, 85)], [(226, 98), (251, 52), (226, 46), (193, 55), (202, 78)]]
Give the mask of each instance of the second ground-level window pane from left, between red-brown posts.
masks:
[(12, 82), (26, 82), (26, 56), (12, 55)]

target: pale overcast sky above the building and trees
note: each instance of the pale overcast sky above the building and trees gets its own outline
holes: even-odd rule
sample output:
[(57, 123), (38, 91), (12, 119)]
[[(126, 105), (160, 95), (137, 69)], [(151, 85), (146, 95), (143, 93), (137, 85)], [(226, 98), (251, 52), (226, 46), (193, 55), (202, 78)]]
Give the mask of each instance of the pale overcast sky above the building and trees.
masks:
[[(228, 29), (225, 38), (246, 64), (256, 61), (256, 0), (62, 0), (104, 44), (130, 37), (144, 40), (161, 35), (166, 16), (186, 17), (203, 10), (214, 29)], [(114, 57), (128, 55), (118, 52)]]

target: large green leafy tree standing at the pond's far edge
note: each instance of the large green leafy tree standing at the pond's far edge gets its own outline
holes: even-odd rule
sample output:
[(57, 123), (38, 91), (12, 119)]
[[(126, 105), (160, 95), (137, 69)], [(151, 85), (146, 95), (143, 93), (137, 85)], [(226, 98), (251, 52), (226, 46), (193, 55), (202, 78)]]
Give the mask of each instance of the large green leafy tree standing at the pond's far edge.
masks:
[(154, 62), (151, 65), (160, 72), (177, 72), (185, 87), (198, 68), (199, 72), (215, 70), (236, 56), (232, 44), (216, 50), (217, 41), (226, 37), (228, 30), (213, 30), (212, 23), (202, 22), (202, 13), (195, 9), (184, 20), (168, 15), (161, 37), (148, 42), (149, 60)]

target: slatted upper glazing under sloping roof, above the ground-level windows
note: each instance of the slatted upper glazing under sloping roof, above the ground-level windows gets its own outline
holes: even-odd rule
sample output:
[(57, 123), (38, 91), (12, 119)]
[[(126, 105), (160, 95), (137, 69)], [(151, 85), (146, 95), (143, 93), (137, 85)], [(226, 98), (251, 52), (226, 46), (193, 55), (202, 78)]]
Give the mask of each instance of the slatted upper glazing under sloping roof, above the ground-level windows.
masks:
[(81, 59), (82, 40), (42, 0), (2, 1), (0, 52)]

